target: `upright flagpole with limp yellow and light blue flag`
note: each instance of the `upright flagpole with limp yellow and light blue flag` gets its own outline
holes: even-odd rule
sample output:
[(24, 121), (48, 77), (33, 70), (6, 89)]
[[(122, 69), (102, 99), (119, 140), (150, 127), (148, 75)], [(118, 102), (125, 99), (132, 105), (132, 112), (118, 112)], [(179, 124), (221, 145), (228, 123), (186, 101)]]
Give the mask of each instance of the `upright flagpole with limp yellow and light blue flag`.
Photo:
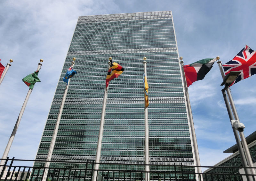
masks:
[[(147, 79), (147, 58), (143, 58), (144, 74)], [(145, 106), (145, 181), (149, 181), (149, 141), (148, 141), (148, 107)]]

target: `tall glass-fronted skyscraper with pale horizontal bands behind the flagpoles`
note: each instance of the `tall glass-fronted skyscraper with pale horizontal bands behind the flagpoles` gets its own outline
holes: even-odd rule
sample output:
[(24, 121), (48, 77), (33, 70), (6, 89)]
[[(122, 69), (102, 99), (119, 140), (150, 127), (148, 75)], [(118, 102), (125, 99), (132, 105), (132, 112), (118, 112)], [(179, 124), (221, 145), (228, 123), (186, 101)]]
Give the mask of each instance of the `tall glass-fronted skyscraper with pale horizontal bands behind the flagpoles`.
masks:
[(108, 57), (112, 57), (124, 72), (109, 82), (100, 161), (144, 163), (143, 57), (147, 57), (149, 162), (194, 165), (171, 11), (79, 17), (37, 160), (47, 158), (66, 87), (62, 78), (73, 57), (77, 74), (70, 79), (52, 160), (95, 160)]

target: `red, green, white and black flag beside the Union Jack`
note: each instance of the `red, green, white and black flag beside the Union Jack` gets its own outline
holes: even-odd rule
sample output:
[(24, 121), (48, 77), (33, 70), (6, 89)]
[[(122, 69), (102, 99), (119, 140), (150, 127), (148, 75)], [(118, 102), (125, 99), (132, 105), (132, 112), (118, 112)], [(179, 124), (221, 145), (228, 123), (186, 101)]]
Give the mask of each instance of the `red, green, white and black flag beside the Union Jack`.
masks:
[(197, 80), (204, 79), (204, 76), (211, 70), (216, 58), (205, 58), (193, 64), (183, 65), (187, 86), (190, 86)]

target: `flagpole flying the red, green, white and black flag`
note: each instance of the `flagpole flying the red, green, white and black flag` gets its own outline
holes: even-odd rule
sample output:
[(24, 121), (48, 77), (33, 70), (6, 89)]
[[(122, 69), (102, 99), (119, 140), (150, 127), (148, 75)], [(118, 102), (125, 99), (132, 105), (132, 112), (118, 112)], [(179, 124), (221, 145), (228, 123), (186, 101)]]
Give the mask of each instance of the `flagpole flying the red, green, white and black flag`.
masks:
[[(197, 140), (196, 140), (196, 132), (195, 132), (194, 121), (193, 121), (193, 116), (192, 116), (192, 109), (191, 109), (189, 95), (188, 95), (187, 80), (186, 80), (185, 72), (184, 72), (184, 69), (183, 69), (184, 62), (183, 62), (182, 59), (183, 58), (180, 57), (182, 77), (183, 77), (186, 101), (187, 101), (187, 106), (188, 106), (188, 116), (189, 116), (189, 123), (190, 123), (190, 128), (191, 128), (191, 137), (192, 137), (192, 142), (193, 142), (193, 148), (194, 148), (194, 151), (195, 151), (196, 166), (198, 166), (198, 167), (196, 167), (195, 170), (197, 171), (197, 173), (202, 173), (200, 158), (199, 158), (199, 152), (198, 152), (198, 146), (197, 146)], [(199, 174), (198, 179), (199, 179), (199, 181), (200, 180), (203, 181), (203, 175)]]

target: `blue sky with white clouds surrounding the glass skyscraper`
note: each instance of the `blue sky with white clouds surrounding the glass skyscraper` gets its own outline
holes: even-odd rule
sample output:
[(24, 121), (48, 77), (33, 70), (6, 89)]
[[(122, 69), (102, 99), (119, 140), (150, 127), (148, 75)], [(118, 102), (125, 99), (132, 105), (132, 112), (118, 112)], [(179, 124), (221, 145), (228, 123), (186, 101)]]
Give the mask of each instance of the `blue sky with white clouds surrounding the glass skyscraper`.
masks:
[[(35, 159), (53, 95), (79, 16), (172, 11), (179, 55), (184, 64), (220, 56), (231, 60), (247, 44), (256, 50), (254, 0), (34, 0), (0, 1), (0, 59), (12, 66), (0, 86), (0, 155), (11, 135), (28, 92), (22, 82), (36, 70), (41, 82), (29, 98), (10, 157)], [(256, 129), (256, 76), (231, 87), (245, 136)], [(204, 80), (189, 87), (201, 165), (212, 166), (235, 144), (221, 94), (217, 64)], [(150, 91), (150, 90), (149, 90)]]

